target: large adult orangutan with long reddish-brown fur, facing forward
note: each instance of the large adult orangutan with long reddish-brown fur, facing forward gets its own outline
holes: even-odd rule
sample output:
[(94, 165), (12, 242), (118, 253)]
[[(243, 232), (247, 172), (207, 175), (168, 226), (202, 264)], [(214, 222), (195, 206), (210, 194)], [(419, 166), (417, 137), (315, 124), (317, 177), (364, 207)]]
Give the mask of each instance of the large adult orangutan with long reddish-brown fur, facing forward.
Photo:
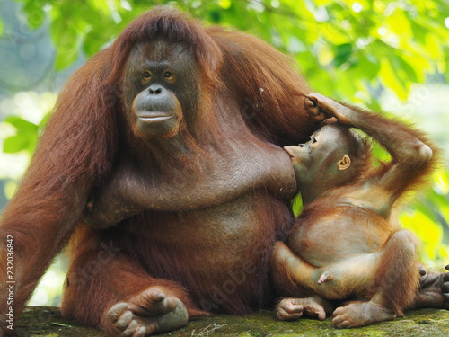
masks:
[[(4, 212), (13, 315), (69, 240), (63, 314), (112, 336), (268, 303), (269, 256), (295, 192), (279, 146), (316, 129), (289, 64), (166, 8), (131, 22), (68, 81)], [(2, 288), (7, 276), (0, 264)]]

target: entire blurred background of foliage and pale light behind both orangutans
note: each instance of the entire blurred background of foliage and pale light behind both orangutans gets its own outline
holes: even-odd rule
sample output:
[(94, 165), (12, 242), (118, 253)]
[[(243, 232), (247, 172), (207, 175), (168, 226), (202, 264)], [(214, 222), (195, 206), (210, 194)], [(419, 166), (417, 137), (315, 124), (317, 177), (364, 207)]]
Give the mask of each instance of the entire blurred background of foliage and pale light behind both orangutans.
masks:
[[(0, 206), (67, 75), (160, 4), (268, 41), (295, 58), (315, 91), (413, 121), (449, 157), (447, 0), (0, 0)], [(421, 238), (424, 262), (449, 262), (447, 161), (400, 217)], [(50, 270), (36, 303), (57, 303), (63, 275), (60, 265)]]

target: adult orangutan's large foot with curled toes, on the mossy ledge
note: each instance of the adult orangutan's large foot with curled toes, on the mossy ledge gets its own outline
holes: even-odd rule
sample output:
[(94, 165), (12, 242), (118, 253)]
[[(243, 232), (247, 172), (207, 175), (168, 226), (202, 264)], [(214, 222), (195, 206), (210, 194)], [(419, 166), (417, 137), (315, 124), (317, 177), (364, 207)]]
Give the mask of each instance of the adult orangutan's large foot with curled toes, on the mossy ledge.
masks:
[(188, 321), (186, 306), (179, 298), (149, 288), (128, 302), (111, 306), (104, 328), (113, 337), (144, 337), (179, 329)]

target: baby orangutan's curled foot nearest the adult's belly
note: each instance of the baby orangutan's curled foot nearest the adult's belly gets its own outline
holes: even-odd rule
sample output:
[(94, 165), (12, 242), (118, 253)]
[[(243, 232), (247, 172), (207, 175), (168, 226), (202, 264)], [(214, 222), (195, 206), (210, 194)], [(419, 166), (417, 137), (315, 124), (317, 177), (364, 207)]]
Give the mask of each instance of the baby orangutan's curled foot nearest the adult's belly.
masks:
[(332, 312), (330, 303), (321, 297), (284, 298), (276, 308), (277, 318), (281, 321), (294, 321), (303, 314), (326, 319), (326, 313)]

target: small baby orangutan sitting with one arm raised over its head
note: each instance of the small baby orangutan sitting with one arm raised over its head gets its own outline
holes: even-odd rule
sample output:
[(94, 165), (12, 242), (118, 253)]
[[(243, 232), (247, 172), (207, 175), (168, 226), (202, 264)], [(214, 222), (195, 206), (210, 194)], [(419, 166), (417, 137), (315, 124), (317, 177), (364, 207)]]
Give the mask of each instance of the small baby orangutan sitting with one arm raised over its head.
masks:
[[(354, 298), (335, 310), (337, 327), (392, 320), (414, 304), (420, 279), (418, 241), (392, 223), (392, 207), (431, 170), (433, 150), (400, 122), (318, 93), (309, 98), (318, 115), (338, 123), (285, 147), (304, 211), (272, 255), (277, 290), (295, 297), (279, 303), (277, 317), (324, 319), (332, 311), (329, 300)], [(376, 139), (392, 160), (374, 167), (369, 144), (349, 127)]]

